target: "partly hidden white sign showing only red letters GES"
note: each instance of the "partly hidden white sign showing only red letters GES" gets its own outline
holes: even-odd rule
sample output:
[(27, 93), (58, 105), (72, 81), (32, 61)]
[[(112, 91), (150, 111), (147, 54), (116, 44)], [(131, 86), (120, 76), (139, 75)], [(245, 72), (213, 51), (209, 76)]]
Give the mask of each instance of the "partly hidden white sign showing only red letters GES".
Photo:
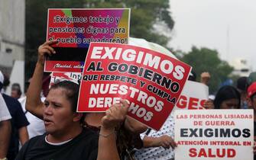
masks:
[(204, 109), (203, 104), (208, 100), (209, 88), (199, 82), (187, 81), (174, 110)]

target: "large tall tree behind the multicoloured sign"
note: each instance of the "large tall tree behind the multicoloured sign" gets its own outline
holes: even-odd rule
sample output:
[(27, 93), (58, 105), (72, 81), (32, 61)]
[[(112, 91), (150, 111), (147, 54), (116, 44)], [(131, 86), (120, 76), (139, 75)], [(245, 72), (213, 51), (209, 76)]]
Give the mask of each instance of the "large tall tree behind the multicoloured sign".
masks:
[(47, 8), (131, 8), (130, 36), (166, 46), (168, 33), (154, 24), (164, 22), (172, 30), (169, 0), (26, 0), (26, 78), (31, 76), (37, 47), (46, 40)]

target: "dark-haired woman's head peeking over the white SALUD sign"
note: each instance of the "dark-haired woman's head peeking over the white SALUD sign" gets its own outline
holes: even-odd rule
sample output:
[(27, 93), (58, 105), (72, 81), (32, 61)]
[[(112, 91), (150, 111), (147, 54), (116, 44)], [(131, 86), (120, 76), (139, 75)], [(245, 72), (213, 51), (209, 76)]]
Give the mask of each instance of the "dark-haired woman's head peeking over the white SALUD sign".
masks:
[(215, 109), (239, 109), (241, 104), (239, 91), (231, 86), (225, 85), (219, 88), (213, 101)]

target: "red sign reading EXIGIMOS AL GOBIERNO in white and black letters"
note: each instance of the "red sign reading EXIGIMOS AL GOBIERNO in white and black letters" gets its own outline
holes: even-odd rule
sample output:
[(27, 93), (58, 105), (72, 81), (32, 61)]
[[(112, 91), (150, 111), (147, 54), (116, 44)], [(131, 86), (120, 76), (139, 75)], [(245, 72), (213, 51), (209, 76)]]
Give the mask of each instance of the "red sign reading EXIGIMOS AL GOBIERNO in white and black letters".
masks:
[(78, 112), (104, 112), (120, 99), (128, 115), (159, 130), (173, 110), (191, 67), (138, 46), (91, 43), (79, 91)]

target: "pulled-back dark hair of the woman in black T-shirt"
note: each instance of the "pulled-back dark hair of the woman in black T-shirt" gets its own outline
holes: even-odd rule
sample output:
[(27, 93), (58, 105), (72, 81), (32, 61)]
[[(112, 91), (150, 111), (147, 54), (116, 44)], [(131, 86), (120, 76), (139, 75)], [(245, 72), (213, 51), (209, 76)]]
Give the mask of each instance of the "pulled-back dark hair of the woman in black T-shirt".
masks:
[(66, 98), (68, 101), (70, 101), (73, 112), (76, 112), (76, 106), (77, 106), (78, 94), (79, 94), (79, 85), (70, 81), (62, 81), (52, 85), (50, 90), (57, 89), (57, 88), (66, 89)]

